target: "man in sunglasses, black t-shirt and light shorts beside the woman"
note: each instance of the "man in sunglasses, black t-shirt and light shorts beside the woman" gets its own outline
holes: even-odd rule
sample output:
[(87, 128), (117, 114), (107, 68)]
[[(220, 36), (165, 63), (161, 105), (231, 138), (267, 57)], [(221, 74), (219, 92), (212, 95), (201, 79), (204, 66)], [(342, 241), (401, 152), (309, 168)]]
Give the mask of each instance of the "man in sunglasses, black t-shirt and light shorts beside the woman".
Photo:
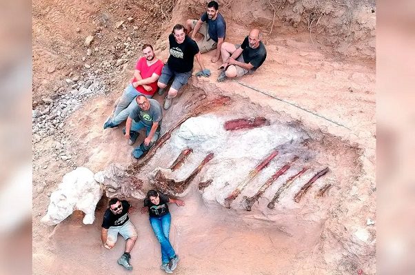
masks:
[(132, 270), (130, 265), (130, 252), (137, 239), (137, 232), (128, 217), (129, 213), (136, 211), (128, 201), (119, 201), (118, 198), (111, 198), (110, 207), (105, 211), (102, 221), (101, 241), (105, 248), (112, 249), (117, 242), (118, 234), (125, 238), (125, 252), (119, 258), (119, 265)]

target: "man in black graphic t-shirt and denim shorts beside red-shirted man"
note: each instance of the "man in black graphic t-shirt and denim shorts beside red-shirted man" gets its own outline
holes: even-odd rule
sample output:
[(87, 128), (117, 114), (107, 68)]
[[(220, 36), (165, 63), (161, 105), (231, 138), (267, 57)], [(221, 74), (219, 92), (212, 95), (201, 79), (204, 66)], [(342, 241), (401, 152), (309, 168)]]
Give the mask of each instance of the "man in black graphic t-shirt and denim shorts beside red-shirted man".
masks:
[(172, 99), (176, 97), (179, 89), (188, 83), (189, 77), (192, 75), (193, 59), (196, 57), (196, 61), (201, 66), (201, 72), (196, 75), (209, 77), (210, 70), (205, 69), (199, 47), (190, 37), (185, 34), (185, 27), (181, 24), (177, 24), (173, 28), (172, 34), (169, 35), (170, 43), (170, 57), (167, 63), (161, 70), (161, 76), (159, 78), (159, 94), (163, 94), (164, 89), (168, 85), (168, 81), (174, 77), (173, 83), (170, 86), (168, 95), (165, 97), (164, 110), (168, 110), (172, 105)]

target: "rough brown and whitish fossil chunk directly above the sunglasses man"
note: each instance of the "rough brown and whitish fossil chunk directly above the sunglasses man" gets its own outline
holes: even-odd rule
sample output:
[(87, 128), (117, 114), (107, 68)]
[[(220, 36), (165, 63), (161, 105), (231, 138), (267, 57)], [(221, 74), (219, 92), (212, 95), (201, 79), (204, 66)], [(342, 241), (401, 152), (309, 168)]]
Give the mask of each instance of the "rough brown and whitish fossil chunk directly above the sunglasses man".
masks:
[(145, 198), (143, 181), (126, 172), (125, 167), (112, 163), (104, 171), (97, 172), (94, 179), (101, 183), (108, 198)]

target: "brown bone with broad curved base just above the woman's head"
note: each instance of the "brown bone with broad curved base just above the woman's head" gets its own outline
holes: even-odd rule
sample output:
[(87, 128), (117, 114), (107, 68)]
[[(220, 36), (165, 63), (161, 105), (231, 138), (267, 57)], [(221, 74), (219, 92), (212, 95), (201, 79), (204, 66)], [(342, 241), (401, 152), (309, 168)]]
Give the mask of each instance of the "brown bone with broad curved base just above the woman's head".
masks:
[[(187, 179), (184, 179), (183, 181), (175, 181), (174, 179), (169, 179), (165, 174), (163, 174), (163, 170), (158, 170), (154, 176), (153, 179), (150, 179), (152, 181), (152, 184), (158, 189), (161, 190), (164, 194), (169, 195), (177, 195), (183, 193), (190, 183), (193, 181), (193, 179), (201, 172), (203, 166), (205, 166), (206, 163), (208, 163), (211, 159), (213, 159), (214, 154), (210, 153), (207, 156), (205, 156), (205, 159), (199, 164), (198, 167), (188, 176)], [(167, 173), (166, 173), (167, 174)]]

